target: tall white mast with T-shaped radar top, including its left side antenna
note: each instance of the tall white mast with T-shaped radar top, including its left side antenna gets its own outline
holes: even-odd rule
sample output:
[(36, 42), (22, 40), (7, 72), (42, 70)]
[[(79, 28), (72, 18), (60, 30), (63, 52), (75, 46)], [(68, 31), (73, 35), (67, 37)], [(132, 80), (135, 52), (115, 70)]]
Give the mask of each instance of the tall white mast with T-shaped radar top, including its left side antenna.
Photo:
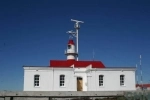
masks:
[[(68, 31), (68, 33), (70, 33), (71, 35), (73, 35), (74, 37), (76, 37), (76, 53), (78, 54), (78, 33), (79, 33), (79, 29), (80, 29), (80, 25), (79, 23), (84, 23), (83, 21), (79, 21), (79, 20), (74, 20), (74, 19), (71, 19), (71, 21), (75, 22), (75, 25), (74, 25), (74, 28), (76, 29), (75, 32), (73, 32), (72, 30), (71, 31)], [(77, 61), (78, 61), (78, 55), (77, 55)]]

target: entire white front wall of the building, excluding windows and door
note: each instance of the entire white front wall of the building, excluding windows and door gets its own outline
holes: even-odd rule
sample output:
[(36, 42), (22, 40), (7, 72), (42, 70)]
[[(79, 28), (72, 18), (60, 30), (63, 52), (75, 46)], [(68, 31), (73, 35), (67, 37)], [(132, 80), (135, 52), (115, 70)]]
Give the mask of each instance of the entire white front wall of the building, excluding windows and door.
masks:
[[(129, 69), (129, 68), (128, 68)], [(34, 75), (40, 75), (40, 86), (34, 87)], [(125, 86), (120, 86), (120, 75), (125, 75)], [(65, 75), (65, 86), (59, 86), (59, 76)], [(104, 86), (99, 87), (99, 75), (104, 75)], [(136, 90), (135, 71), (85, 68), (24, 68), (24, 91), (77, 91), (77, 77), (83, 78), (83, 91)]]

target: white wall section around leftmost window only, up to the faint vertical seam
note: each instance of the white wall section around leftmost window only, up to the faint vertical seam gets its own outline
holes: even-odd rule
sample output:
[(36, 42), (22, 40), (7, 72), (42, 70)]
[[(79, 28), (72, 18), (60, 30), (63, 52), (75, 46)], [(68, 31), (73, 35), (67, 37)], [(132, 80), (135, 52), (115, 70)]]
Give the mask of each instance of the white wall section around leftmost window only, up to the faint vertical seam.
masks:
[[(40, 86), (34, 87), (34, 75), (40, 75)], [(24, 71), (24, 91), (51, 91), (52, 90), (52, 70), (25, 70)]]

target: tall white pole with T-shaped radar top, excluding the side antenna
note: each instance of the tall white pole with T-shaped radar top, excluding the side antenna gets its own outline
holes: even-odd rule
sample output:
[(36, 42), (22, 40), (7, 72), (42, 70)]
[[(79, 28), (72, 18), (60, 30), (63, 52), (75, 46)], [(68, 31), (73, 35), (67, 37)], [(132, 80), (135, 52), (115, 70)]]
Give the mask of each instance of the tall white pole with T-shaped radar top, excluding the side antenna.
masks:
[[(78, 21), (78, 20), (74, 20), (74, 19), (71, 19), (71, 21), (74, 21), (75, 22), (75, 25), (74, 25), (74, 28), (76, 29), (76, 52), (77, 52), (77, 54), (78, 54), (78, 40), (79, 40), (79, 37), (78, 37), (78, 33), (79, 33), (79, 29), (80, 29), (80, 25), (79, 25), (79, 23), (84, 23), (83, 21)], [(79, 54), (78, 54), (79, 55)], [(77, 55), (77, 61), (78, 61), (78, 55)]]

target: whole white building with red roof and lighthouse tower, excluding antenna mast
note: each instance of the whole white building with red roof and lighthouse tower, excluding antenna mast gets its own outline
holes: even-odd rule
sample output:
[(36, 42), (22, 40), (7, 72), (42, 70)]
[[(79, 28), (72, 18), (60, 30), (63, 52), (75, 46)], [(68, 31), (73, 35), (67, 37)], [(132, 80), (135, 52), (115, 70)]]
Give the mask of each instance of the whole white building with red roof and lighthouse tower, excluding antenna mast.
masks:
[(76, 61), (73, 40), (67, 60), (50, 66), (24, 66), (24, 91), (129, 91), (136, 90), (135, 68), (107, 68), (101, 61)]

